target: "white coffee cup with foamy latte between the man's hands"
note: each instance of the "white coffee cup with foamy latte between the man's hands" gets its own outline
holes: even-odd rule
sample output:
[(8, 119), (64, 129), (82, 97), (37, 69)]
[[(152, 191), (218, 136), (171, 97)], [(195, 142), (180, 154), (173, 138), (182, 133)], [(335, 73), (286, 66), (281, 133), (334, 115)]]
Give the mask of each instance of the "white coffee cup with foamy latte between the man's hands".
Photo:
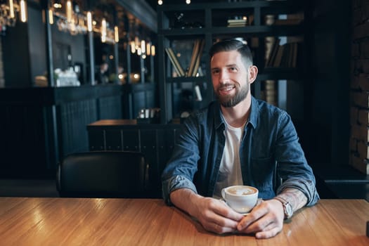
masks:
[(245, 214), (257, 205), (259, 190), (252, 186), (228, 186), (221, 190), (221, 196), (235, 212)]

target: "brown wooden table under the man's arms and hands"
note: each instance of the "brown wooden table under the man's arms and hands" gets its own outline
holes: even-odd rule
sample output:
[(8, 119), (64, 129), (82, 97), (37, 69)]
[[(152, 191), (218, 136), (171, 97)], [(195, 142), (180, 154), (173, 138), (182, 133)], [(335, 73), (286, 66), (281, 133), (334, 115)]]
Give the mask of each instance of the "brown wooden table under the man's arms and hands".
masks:
[(155, 199), (0, 198), (0, 245), (369, 245), (369, 203), (321, 200), (274, 238), (216, 235)]

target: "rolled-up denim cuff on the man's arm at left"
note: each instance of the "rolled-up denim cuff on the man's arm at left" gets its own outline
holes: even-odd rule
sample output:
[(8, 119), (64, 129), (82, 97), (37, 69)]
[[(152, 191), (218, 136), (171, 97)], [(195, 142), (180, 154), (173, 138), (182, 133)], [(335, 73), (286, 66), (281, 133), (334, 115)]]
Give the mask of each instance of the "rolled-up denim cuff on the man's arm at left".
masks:
[(162, 195), (167, 205), (172, 205), (170, 201), (170, 193), (181, 188), (188, 188), (190, 190), (193, 190), (193, 192), (198, 193), (195, 184), (193, 184), (193, 182), (189, 179), (186, 179), (186, 177), (184, 176), (176, 175), (174, 177), (171, 177), (170, 179), (163, 181)]

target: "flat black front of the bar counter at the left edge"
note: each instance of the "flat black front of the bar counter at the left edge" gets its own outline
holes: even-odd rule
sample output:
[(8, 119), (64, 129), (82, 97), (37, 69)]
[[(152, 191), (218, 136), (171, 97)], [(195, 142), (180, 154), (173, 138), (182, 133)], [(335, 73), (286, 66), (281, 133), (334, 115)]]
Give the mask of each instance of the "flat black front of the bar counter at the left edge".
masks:
[(46, 146), (41, 108), (0, 106), (0, 114), (0, 176), (42, 176)]

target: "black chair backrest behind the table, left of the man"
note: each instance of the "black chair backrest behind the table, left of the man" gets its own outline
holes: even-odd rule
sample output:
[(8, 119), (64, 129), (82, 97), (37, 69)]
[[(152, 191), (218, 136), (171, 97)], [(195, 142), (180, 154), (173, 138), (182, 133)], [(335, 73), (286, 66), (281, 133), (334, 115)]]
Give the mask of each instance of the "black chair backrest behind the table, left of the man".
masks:
[(56, 180), (60, 197), (141, 198), (147, 174), (142, 153), (96, 151), (67, 155)]

